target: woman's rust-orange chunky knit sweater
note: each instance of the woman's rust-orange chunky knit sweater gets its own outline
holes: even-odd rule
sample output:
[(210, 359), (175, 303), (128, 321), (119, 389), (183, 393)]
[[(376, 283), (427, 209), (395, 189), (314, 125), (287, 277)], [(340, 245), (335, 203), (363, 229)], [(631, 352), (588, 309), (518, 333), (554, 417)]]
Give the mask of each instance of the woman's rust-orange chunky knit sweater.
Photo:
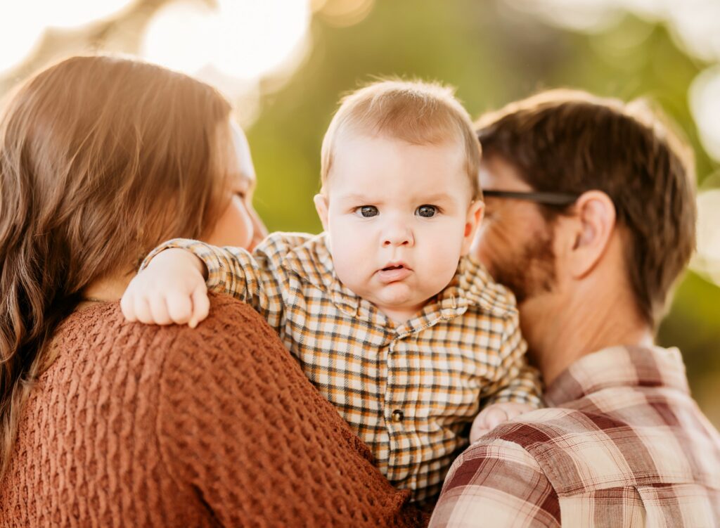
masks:
[(416, 526), (424, 520), (258, 314), (198, 328), (73, 314), (22, 413), (1, 527)]

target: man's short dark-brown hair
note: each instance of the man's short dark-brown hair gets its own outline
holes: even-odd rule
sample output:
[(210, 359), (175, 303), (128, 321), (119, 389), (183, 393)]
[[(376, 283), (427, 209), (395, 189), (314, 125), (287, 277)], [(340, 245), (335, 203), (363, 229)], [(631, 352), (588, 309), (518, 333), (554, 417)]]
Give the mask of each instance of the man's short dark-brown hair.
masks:
[[(477, 122), (487, 159), (509, 163), (533, 189), (608, 194), (626, 236), (637, 308), (656, 326), (696, 241), (693, 153), (646, 102), (552, 90)], [(565, 210), (543, 207), (546, 220)]]

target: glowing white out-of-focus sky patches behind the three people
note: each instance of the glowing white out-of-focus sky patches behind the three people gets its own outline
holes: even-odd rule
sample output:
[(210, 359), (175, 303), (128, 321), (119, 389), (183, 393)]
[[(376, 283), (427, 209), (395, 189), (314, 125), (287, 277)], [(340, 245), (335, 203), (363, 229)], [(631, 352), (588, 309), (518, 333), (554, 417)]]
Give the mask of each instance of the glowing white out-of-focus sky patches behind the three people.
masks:
[[(72, 30), (117, 17), (138, 0), (23, 0), (0, 8), (0, 77), (37, 50), (49, 28)], [(175, 0), (145, 25), (140, 55), (198, 76), (242, 102), (241, 124), (259, 112), (260, 82), (288, 77), (311, 49), (310, 20), (360, 22), (374, 0)], [(579, 32), (603, 32), (626, 12), (665, 24), (685, 53), (708, 64), (688, 101), (708, 156), (720, 161), (720, 0), (505, 0), (510, 9)], [(421, 37), (418, 35), (418, 37)], [(274, 86), (279, 86), (276, 82)], [(698, 196), (696, 271), (720, 285), (720, 190)]]

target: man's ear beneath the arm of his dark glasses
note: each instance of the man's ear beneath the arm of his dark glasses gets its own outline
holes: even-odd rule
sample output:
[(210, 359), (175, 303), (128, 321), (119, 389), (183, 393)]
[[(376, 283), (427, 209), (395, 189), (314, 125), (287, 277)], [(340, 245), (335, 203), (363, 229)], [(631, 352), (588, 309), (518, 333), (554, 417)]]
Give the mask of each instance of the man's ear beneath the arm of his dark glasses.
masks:
[(602, 191), (583, 192), (574, 207), (576, 221), (570, 233), (568, 262), (573, 276), (581, 278), (593, 270), (608, 249), (616, 212), (613, 200)]

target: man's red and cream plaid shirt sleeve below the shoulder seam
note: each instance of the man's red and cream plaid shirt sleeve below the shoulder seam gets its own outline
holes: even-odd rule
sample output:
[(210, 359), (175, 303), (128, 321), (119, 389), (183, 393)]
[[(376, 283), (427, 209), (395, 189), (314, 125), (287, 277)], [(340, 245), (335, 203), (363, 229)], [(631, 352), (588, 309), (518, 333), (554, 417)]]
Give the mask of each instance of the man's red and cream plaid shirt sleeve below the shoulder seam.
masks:
[(559, 527), (557, 493), (518, 444), (480, 440), (453, 463), (431, 528)]

